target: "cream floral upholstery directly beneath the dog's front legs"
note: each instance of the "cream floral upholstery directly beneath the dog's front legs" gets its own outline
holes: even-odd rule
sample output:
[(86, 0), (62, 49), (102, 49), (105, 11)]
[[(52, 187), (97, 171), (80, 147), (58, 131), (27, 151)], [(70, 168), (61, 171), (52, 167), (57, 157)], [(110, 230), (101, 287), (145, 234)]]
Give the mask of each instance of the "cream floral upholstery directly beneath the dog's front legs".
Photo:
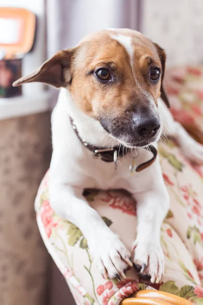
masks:
[[(49, 173), (44, 177), (36, 198), (37, 220), (45, 245), (72, 288), (74, 297), (87, 302), (114, 304), (139, 289), (151, 286), (178, 294), (193, 302), (203, 302), (203, 182), (181, 156), (173, 142), (159, 146), (163, 177), (171, 197), (170, 211), (161, 228), (165, 274), (159, 285), (140, 282), (136, 271), (127, 280), (103, 279), (89, 253), (86, 239), (73, 224), (60, 219), (49, 205)], [(118, 191), (86, 194), (90, 205), (118, 233), (130, 249), (136, 237), (136, 203)], [(200, 298), (200, 300), (199, 300)], [(78, 302), (78, 301), (77, 301)], [(83, 300), (84, 302), (84, 300)]]

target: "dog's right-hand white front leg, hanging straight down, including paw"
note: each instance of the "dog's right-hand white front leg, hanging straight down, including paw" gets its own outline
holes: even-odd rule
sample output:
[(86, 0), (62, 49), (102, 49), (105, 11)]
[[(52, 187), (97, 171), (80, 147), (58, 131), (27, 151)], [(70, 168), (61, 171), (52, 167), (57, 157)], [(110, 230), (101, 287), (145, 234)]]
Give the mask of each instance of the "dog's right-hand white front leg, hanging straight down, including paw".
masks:
[(160, 228), (169, 207), (169, 196), (165, 186), (160, 183), (156, 190), (133, 197), (137, 201), (138, 227), (132, 245), (132, 261), (144, 280), (158, 283), (164, 272)]

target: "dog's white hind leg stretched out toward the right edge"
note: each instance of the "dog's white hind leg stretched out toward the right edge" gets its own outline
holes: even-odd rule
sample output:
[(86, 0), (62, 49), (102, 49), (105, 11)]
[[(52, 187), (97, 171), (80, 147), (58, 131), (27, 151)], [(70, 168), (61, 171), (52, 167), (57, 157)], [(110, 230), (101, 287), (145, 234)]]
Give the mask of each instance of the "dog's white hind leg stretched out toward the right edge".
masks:
[(190, 137), (186, 130), (174, 120), (162, 101), (159, 102), (159, 111), (163, 117), (163, 133), (176, 139), (182, 154), (188, 160), (199, 165), (203, 164), (203, 146)]

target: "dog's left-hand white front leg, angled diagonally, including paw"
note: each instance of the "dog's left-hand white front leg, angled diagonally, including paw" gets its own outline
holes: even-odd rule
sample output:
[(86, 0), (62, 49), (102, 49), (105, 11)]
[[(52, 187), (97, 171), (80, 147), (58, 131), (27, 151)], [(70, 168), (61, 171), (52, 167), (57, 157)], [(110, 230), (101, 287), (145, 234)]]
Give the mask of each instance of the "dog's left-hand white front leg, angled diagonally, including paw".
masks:
[(132, 266), (130, 252), (89, 206), (82, 195), (83, 190), (65, 184), (51, 184), (49, 189), (52, 208), (61, 218), (72, 222), (82, 231), (101, 274), (106, 279), (125, 278), (124, 272), (129, 265)]

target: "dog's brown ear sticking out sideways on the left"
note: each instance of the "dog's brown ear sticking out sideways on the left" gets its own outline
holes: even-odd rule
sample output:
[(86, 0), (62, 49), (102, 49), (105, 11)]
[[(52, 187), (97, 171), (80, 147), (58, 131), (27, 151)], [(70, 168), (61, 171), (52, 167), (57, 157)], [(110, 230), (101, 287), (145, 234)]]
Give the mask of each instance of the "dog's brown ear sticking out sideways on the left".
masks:
[(31, 74), (21, 77), (13, 83), (19, 86), (27, 82), (43, 82), (56, 88), (65, 87), (71, 82), (71, 56), (74, 49), (58, 51), (48, 59), (40, 68)]

